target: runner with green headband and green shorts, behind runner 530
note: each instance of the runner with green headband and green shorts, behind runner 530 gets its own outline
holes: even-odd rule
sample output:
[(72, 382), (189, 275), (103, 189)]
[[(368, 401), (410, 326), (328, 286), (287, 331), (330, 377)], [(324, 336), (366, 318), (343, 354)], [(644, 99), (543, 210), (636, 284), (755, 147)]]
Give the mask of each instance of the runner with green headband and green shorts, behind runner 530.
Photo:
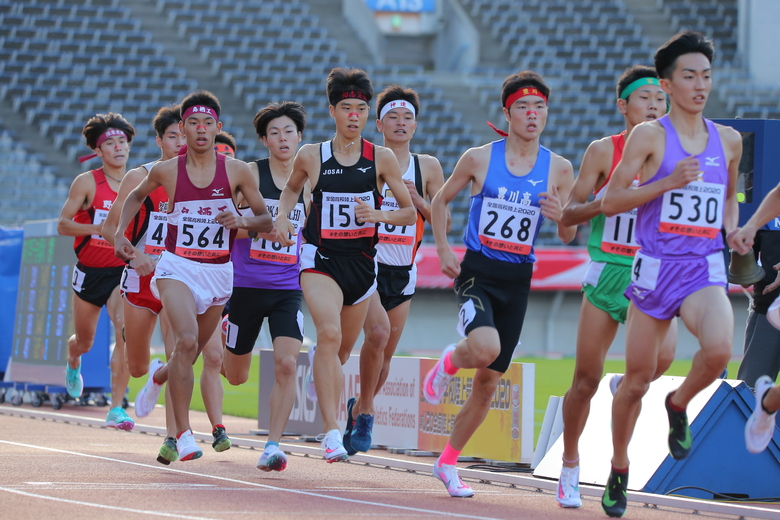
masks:
[[(654, 68), (636, 65), (620, 76), (617, 108), (623, 114), (626, 129), (590, 144), (563, 210), (565, 225), (591, 222), (588, 239), (591, 262), (582, 283), (574, 380), (563, 398), (563, 467), (556, 496), (563, 507), (582, 506), (578, 443), (590, 412), (590, 400), (604, 372), (607, 350), (615, 339), (618, 324), (626, 321), (628, 299), (623, 293), (631, 282), (631, 262), (639, 249), (634, 231), (636, 210), (605, 218), (601, 213), (601, 198), (612, 171), (620, 162), (626, 138), (640, 123), (655, 121), (666, 112), (666, 93)], [(595, 198), (588, 202), (591, 193)], [(673, 322), (659, 352), (653, 379), (669, 368), (676, 340), (677, 328)]]

